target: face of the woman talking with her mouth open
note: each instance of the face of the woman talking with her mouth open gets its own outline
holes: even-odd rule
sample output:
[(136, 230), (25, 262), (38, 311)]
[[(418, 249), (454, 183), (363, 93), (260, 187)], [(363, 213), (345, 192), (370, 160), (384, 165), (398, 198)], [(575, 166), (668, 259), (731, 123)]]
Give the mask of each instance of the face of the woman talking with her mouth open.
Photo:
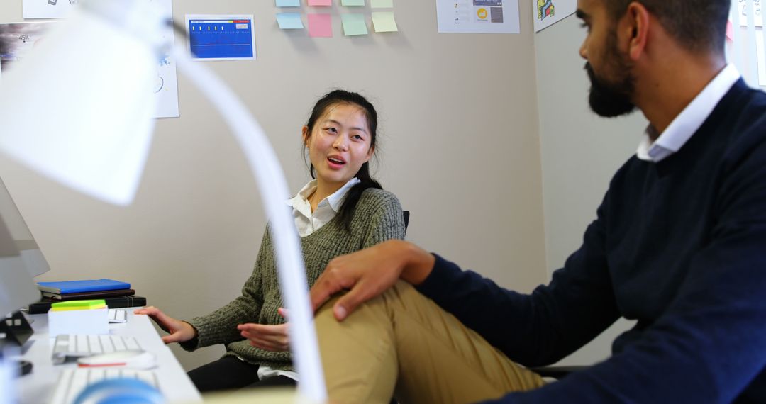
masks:
[(330, 106), (311, 133), (304, 126), (303, 142), (309, 148), (316, 179), (333, 187), (342, 187), (353, 178), (373, 152), (365, 112), (348, 103)]

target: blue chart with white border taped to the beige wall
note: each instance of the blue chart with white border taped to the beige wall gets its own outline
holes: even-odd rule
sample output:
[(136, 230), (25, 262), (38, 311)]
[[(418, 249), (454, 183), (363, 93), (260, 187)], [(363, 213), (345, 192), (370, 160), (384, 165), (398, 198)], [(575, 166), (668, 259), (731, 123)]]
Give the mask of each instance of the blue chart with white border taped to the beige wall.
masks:
[(186, 15), (191, 57), (199, 60), (254, 60), (253, 15)]

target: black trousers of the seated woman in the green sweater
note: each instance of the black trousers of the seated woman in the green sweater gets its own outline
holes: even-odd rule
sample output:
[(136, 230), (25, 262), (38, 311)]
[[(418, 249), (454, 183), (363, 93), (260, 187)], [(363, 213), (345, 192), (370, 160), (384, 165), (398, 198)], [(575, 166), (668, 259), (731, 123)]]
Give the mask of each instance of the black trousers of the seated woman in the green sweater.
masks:
[(295, 380), (286, 376), (258, 380), (258, 367), (236, 357), (222, 357), (219, 360), (190, 370), (191, 383), (200, 393), (217, 390), (244, 389), (267, 386), (295, 386)]

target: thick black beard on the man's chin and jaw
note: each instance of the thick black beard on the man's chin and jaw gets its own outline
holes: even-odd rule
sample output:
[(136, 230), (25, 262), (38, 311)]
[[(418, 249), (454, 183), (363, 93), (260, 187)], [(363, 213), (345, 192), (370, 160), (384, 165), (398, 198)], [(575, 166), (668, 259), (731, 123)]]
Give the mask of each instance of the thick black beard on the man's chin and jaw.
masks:
[[(616, 57), (616, 55), (615, 55)], [(634, 80), (630, 73), (627, 73), (628, 67), (623, 63), (617, 64), (617, 71), (625, 72), (617, 83), (609, 83), (596, 77), (590, 63), (585, 64), (585, 70), (591, 79), (591, 93), (588, 96), (588, 102), (591, 109), (605, 118), (614, 118), (627, 115), (636, 109), (636, 106), (630, 102), (630, 95), (633, 94)]]

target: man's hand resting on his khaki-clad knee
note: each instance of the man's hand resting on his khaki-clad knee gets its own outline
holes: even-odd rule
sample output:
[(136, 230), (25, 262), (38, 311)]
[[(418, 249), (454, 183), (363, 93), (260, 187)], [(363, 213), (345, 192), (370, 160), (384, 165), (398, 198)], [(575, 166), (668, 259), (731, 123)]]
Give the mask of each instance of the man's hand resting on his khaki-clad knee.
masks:
[(336, 257), (311, 288), (311, 304), (316, 311), (333, 294), (348, 290), (332, 308), (335, 318), (343, 321), (358, 305), (381, 295), (398, 279), (421, 284), (434, 269), (435, 260), (414, 244), (396, 239)]

